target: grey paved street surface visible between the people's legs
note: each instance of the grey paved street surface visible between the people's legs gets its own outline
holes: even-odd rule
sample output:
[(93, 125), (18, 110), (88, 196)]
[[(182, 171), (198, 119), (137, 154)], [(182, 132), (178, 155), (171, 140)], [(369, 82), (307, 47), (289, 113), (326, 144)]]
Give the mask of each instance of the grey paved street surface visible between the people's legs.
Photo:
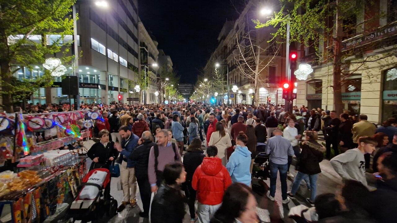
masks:
[[(87, 142), (86, 146), (89, 148), (92, 145), (91, 142)], [(203, 147), (204, 148), (204, 147)], [(337, 173), (333, 170), (330, 162), (328, 160), (323, 160), (320, 163), (320, 167), (322, 173), (318, 175), (317, 180), (317, 194), (322, 193), (335, 193), (338, 185), (341, 184), (341, 177), (337, 175)], [(290, 172), (296, 175), (295, 166), (291, 165)], [(279, 176), (278, 176), (279, 177)], [(373, 181), (370, 179), (371, 175), (367, 174), (367, 179), (370, 184)], [(110, 194), (116, 198), (118, 203), (120, 204), (123, 198), (123, 191), (118, 191), (118, 181), (119, 178), (112, 178), (111, 182), (111, 191)], [(310, 191), (306, 188), (306, 183), (302, 181), (301, 187), (297, 193), (297, 196), (294, 200), (291, 200), (289, 204), (281, 203), (281, 184), (279, 179), (277, 180), (277, 189), (276, 189), (276, 201), (271, 201), (266, 197), (266, 191), (268, 190), (268, 186), (270, 185), (269, 179), (264, 181), (266, 185), (264, 187), (259, 186), (258, 180), (254, 179), (253, 190), (255, 192), (256, 199), (258, 201), (258, 206), (260, 208), (260, 218), (264, 222), (272, 222), (272, 223), (292, 223), (293, 221), (287, 217), (287, 214), (290, 208), (297, 206), (299, 204), (303, 204), (308, 206), (306, 201), (304, 200), (306, 197), (310, 197)], [(288, 190), (291, 189), (291, 185), (293, 182), (293, 178), (287, 179)], [(138, 213), (141, 211), (142, 202), (139, 196), (139, 189), (137, 191), (137, 206), (135, 208), (127, 207), (123, 212), (118, 213), (112, 219), (102, 219), (101, 222), (109, 222), (109, 223), (141, 223), (148, 222), (147, 219), (140, 218)], [(190, 223), (189, 210), (186, 206), (187, 214), (184, 219), (184, 223)]]

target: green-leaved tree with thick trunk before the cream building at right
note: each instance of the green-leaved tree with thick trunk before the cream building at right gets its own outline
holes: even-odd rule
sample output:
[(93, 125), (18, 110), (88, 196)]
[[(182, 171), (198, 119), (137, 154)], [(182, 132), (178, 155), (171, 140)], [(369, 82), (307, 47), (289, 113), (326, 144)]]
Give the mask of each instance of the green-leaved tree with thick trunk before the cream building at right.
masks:
[[(332, 82), (323, 88), (333, 90), (333, 109), (343, 112), (342, 87), (349, 88), (351, 76), (358, 72), (370, 72), (376, 69), (380, 60), (390, 57), (393, 52), (384, 55), (365, 55), (369, 49), (382, 48), (379, 42), (356, 44), (352, 47), (344, 40), (364, 36), (378, 29), (382, 13), (377, 11), (375, 0), (281, 0), (281, 10), (274, 13), (265, 23), (254, 20), (256, 28), (277, 27), (273, 36), (286, 37), (286, 25), (290, 24), (290, 40), (298, 42), (316, 51), (314, 63), (329, 65)], [(366, 15), (371, 12), (372, 16)], [(350, 43), (350, 42), (349, 42)], [(391, 62), (395, 63), (395, 61)], [(384, 66), (384, 65), (383, 65)], [(328, 74), (326, 74), (328, 75)], [(364, 78), (377, 78), (362, 75)]]

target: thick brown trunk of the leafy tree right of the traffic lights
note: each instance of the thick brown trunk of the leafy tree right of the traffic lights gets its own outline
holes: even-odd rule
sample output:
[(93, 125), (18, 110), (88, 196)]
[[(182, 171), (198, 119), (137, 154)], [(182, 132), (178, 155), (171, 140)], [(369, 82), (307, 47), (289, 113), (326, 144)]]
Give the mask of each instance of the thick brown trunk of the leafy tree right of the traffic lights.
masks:
[[(336, 36), (333, 40), (333, 110), (337, 114), (343, 113), (343, 103), (342, 103), (342, 91), (341, 91), (341, 65), (342, 65), (342, 24), (343, 21), (340, 19), (340, 11), (338, 7), (339, 0), (336, 1)], [(327, 101), (328, 103), (328, 101)]]

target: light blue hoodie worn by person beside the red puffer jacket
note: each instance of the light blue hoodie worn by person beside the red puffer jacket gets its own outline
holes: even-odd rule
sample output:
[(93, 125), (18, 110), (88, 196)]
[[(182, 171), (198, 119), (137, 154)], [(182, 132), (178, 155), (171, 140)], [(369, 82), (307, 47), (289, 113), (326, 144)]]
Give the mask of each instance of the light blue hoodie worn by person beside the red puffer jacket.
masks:
[(235, 151), (231, 154), (226, 169), (230, 174), (233, 183), (244, 183), (251, 186), (251, 152), (248, 148), (236, 145)]

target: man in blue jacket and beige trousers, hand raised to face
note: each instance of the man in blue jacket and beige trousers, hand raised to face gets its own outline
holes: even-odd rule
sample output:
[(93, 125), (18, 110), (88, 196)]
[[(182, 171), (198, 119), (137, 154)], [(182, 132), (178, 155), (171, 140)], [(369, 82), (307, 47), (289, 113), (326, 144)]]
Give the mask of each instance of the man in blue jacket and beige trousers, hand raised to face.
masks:
[(127, 204), (131, 204), (132, 207), (137, 205), (137, 201), (135, 200), (135, 194), (137, 192), (135, 161), (131, 160), (130, 156), (138, 143), (139, 137), (132, 133), (128, 126), (121, 126), (119, 133), (123, 140), (121, 141), (121, 145), (115, 143), (115, 147), (120, 152), (120, 177), (124, 194), (124, 200), (117, 209), (118, 212), (121, 212)]

